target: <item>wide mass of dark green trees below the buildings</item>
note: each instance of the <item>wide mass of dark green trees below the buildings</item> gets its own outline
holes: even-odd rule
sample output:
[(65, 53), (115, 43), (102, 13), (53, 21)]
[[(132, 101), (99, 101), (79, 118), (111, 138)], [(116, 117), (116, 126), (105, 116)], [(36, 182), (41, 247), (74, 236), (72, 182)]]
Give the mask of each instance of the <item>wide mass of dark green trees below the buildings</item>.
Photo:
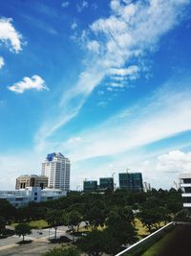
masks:
[(54, 227), (56, 238), (58, 225), (69, 226), (74, 234), (84, 221), (92, 232), (78, 239), (76, 245), (94, 256), (102, 252), (115, 255), (121, 245), (135, 243), (138, 240), (135, 218), (153, 232), (161, 224), (189, 220), (190, 216), (182, 211), (181, 193), (175, 189), (153, 189), (148, 193), (123, 190), (108, 190), (104, 194), (71, 192), (66, 198), (31, 202), (18, 209), (6, 200), (0, 203), (0, 233), (3, 233), (6, 222), (46, 220)]

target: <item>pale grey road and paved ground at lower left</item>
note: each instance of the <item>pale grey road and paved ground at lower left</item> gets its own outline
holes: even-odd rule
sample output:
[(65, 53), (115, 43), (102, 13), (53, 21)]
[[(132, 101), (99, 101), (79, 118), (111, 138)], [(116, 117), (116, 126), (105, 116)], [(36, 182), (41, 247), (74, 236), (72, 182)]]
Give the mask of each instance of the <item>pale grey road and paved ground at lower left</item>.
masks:
[[(59, 226), (57, 228), (56, 237), (66, 236), (73, 239), (71, 235), (66, 233), (66, 226)], [(36, 256), (47, 251), (49, 248), (55, 246), (50, 244), (49, 240), (54, 238), (54, 228), (46, 229), (32, 229), (32, 234), (25, 237), (25, 240), (32, 240), (31, 244), (18, 245), (16, 243), (22, 241), (22, 237), (11, 236), (5, 239), (0, 239), (0, 256)]]

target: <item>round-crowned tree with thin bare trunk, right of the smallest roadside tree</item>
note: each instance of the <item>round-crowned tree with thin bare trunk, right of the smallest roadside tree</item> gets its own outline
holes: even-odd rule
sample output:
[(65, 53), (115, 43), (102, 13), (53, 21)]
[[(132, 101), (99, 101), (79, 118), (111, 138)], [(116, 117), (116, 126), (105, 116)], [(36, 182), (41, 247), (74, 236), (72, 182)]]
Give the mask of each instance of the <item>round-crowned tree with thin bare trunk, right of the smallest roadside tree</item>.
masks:
[(54, 228), (54, 239), (56, 239), (57, 227), (63, 223), (63, 213), (61, 210), (49, 210), (45, 216), (45, 220)]

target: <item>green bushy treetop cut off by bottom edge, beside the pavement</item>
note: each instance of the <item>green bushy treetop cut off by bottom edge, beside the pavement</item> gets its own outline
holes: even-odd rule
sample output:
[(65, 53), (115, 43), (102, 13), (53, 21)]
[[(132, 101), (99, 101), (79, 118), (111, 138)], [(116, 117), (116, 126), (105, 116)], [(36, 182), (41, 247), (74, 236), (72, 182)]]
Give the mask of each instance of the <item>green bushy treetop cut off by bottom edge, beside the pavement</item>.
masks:
[(80, 256), (80, 251), (74, 246), (62, 245), (60, 247), (54, 247), (42, 254), (42, 256)]

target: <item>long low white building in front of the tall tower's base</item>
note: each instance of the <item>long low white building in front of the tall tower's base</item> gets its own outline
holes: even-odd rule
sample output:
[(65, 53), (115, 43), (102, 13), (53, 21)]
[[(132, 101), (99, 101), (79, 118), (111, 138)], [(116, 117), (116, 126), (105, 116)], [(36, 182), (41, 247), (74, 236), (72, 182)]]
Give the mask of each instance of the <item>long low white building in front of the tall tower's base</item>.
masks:
[(26, 205), (31, 201), (40, 202), (66, 196), (66, 191), (58, 189), (42, 190), (40, 187), (28, 187), (19, 190), (0, 191), (0, 198), (9, 200), (15, 207)]

